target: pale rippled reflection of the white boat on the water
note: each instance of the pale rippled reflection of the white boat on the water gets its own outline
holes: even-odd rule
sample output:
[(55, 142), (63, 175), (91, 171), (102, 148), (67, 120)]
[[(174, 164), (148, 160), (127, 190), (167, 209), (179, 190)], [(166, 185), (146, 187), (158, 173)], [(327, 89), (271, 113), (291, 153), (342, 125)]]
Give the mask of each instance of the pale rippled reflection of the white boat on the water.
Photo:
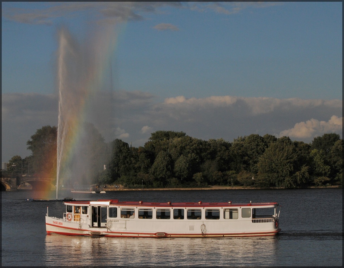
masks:
[[(206, 241), (205, 241), (206, 240)], [(96, 236), (46, 235), (44, 257), (52, 266), (108, 267), (257, 267), (278, 266), (280, 245), (276, 236), (224, 238), (126, 239)], [(206, 243), (206, 244), (205, 244)], [(66, 258), (66, 246), (68, 256)], [(200, 250), (205, 253), (200, 256)], [(120, 252), (120, 257), (118, 253)], [(166, 253), (168, 252), (168, 253)], [(96, 254), (95, 254), (96, 253)], [(79, 258), (82, 256), (82, 258)], [(259, 257), (258, 257), (259, 256)], [(196, 265), (192, 266), (196, 267)]]

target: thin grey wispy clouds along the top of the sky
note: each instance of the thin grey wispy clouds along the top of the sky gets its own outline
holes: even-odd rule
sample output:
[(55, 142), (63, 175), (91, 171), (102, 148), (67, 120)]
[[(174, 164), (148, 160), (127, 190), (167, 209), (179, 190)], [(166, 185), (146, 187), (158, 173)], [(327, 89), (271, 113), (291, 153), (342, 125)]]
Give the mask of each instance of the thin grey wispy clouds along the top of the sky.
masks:
[[(277, 3), (180, 3), (180, 2), (49, 2), (34, 5), (34, 8), (7, 8), (2, 7), (2, 16), (8, 20), (38, 25), (53, 25), (62, 17), (82, 16), (88, 12), (89, 18), (95, 19), (99, 24), (115, 24), (125, 21), (146, 20), (146, 14), (160, 13), (163, 7), (174, 7), (195, 10), (198, 12), (214, 11), (221, 14), (235, 14), (247, 8), (263, 8)], [(279, 3), (280, 4), (280, 3)], [(169, 23), (161, 23), (154, 27), (158, 30), (178, 31), (178, 27)]]

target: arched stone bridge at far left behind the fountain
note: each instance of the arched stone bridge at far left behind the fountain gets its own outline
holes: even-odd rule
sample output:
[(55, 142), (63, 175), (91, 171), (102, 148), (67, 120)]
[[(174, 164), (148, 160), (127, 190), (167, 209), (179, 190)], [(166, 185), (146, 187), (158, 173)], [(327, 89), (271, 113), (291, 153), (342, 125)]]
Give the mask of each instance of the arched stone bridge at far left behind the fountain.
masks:
[(46, 190), (56, 189), (55, 178), (40, 178), (34, 176), (17, 176), (13, 178), (1, 178), (1, 191), (16, 191), (19, 186), (23, 186), (24, 183), (29, 183), (32, 189), (35, 190)]

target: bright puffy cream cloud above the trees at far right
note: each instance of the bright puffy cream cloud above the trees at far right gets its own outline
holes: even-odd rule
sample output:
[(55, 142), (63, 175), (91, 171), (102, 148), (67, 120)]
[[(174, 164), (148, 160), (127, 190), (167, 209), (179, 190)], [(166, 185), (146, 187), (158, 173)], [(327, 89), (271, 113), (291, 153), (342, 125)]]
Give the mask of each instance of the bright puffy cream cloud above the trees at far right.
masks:
[(279, 133), (279, 137), (288, 136), (290, 138), (305, 139), (321, 136), (324, 133), (338, 133), (343, 129), (343, 117), (331, 116), (329, 121), (319, 121), (310, 119), (306, 122), (296, 123), (291, 129), (283, 130)]

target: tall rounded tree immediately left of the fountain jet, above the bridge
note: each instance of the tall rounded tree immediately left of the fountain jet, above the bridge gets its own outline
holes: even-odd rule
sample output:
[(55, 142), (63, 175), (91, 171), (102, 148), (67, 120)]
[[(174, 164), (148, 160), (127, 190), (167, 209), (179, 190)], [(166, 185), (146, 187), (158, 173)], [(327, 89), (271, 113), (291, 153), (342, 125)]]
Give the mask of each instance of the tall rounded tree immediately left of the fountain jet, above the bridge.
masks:
[(32, 152), (32, 167), (41, 176), (56, 174), (57, 128), (44, 126), (26, 142)]

